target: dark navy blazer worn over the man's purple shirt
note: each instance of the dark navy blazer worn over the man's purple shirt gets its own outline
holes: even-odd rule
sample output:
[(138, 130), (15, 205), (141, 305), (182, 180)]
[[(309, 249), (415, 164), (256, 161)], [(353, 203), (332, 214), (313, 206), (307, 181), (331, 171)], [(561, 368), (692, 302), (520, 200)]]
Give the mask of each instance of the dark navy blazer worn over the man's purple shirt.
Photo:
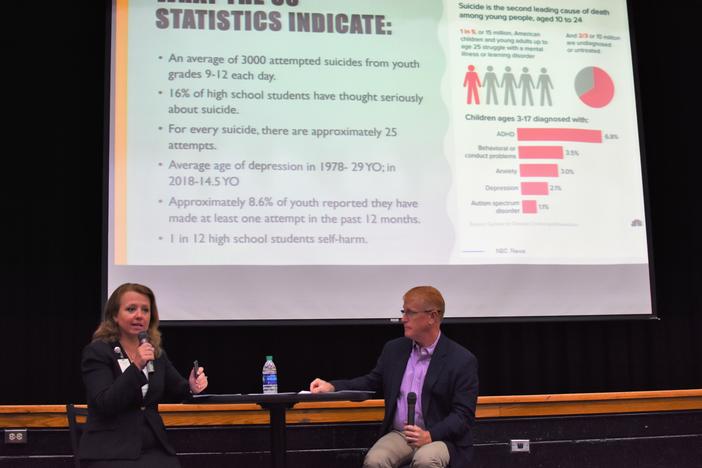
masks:
[[(392, 430), (402, 376), (412, 340), (397, 338), (385, 344), (375, 368), (367, 375), (330, 383), (341, 390), (382, 391), (385, 418), (381, 433)], [(473, 456), (471, 428), (478, 399), (478, 360), (455, 341), (441, 334), (422, 387), (422, 416), (432, 441), (445, 442), (450, 466), (465, 468)]]

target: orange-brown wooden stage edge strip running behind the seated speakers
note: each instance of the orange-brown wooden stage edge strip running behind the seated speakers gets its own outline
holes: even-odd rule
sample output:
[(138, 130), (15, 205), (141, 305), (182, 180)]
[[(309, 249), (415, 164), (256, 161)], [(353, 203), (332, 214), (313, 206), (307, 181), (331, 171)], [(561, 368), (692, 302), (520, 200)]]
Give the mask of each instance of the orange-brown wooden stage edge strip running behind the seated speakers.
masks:
[[(77, 405), (84, 406), (84, 405)], [(702, 410), (702, 389), (557, 395), (482, 396), (478, 418), (517, 418), (582, 414)], [(268, 411), (255, 404), (163, 404), (166, 426), (268, 424)], [(288, 424), (380, 422), (383, 400), (361, 403), (298, 403)], [(0, 406), (0, 428), (68, 427), (65, 405)]]

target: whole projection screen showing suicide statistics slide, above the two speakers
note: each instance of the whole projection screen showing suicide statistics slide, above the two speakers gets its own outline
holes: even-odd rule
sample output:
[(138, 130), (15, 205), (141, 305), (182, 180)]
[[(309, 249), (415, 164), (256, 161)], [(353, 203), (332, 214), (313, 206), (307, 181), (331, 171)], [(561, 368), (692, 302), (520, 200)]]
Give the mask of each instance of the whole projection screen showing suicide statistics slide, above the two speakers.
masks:
[(163, 320), (652, 313), (625, 0), (115, 0), (108, 293)]

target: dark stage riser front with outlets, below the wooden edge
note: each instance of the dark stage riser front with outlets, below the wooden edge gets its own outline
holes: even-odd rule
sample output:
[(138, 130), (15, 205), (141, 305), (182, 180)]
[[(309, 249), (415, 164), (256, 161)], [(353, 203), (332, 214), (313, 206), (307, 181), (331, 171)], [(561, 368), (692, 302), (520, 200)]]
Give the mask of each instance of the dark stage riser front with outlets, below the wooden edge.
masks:
[[(357, 468), (379, 424), (288, 427), (288, 468)], [(170, 428), (183, 468), (269, 466), (267, 426)], [(509, 453), (529, 439), (530, 453)], [(29, 429), (29, 443), (0, 444), (0, 466), (73, 467), (67, 429)], [(699, 467), (702, 411), (481, 419), (476, 468)]]

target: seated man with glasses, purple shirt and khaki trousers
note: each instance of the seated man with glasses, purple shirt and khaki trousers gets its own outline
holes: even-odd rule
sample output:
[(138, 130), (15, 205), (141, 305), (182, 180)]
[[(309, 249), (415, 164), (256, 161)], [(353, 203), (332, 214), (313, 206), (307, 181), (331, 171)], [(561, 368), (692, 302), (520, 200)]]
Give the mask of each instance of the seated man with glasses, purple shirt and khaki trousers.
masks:
[[(315, 379), (312, 393), (341, 390), (383, 391), (384, 434), (368, 451), (364, 467), (469, 466), (471, 427), (478, 398), (478, 361), (441, 333), (444, 298), (431, 286), (417, 286), (403, 297), (405, 336), (385, 344), (367, 375), (326, 382)], [(417, 396), (414, 424), (408, 421), (408, 398)]]

